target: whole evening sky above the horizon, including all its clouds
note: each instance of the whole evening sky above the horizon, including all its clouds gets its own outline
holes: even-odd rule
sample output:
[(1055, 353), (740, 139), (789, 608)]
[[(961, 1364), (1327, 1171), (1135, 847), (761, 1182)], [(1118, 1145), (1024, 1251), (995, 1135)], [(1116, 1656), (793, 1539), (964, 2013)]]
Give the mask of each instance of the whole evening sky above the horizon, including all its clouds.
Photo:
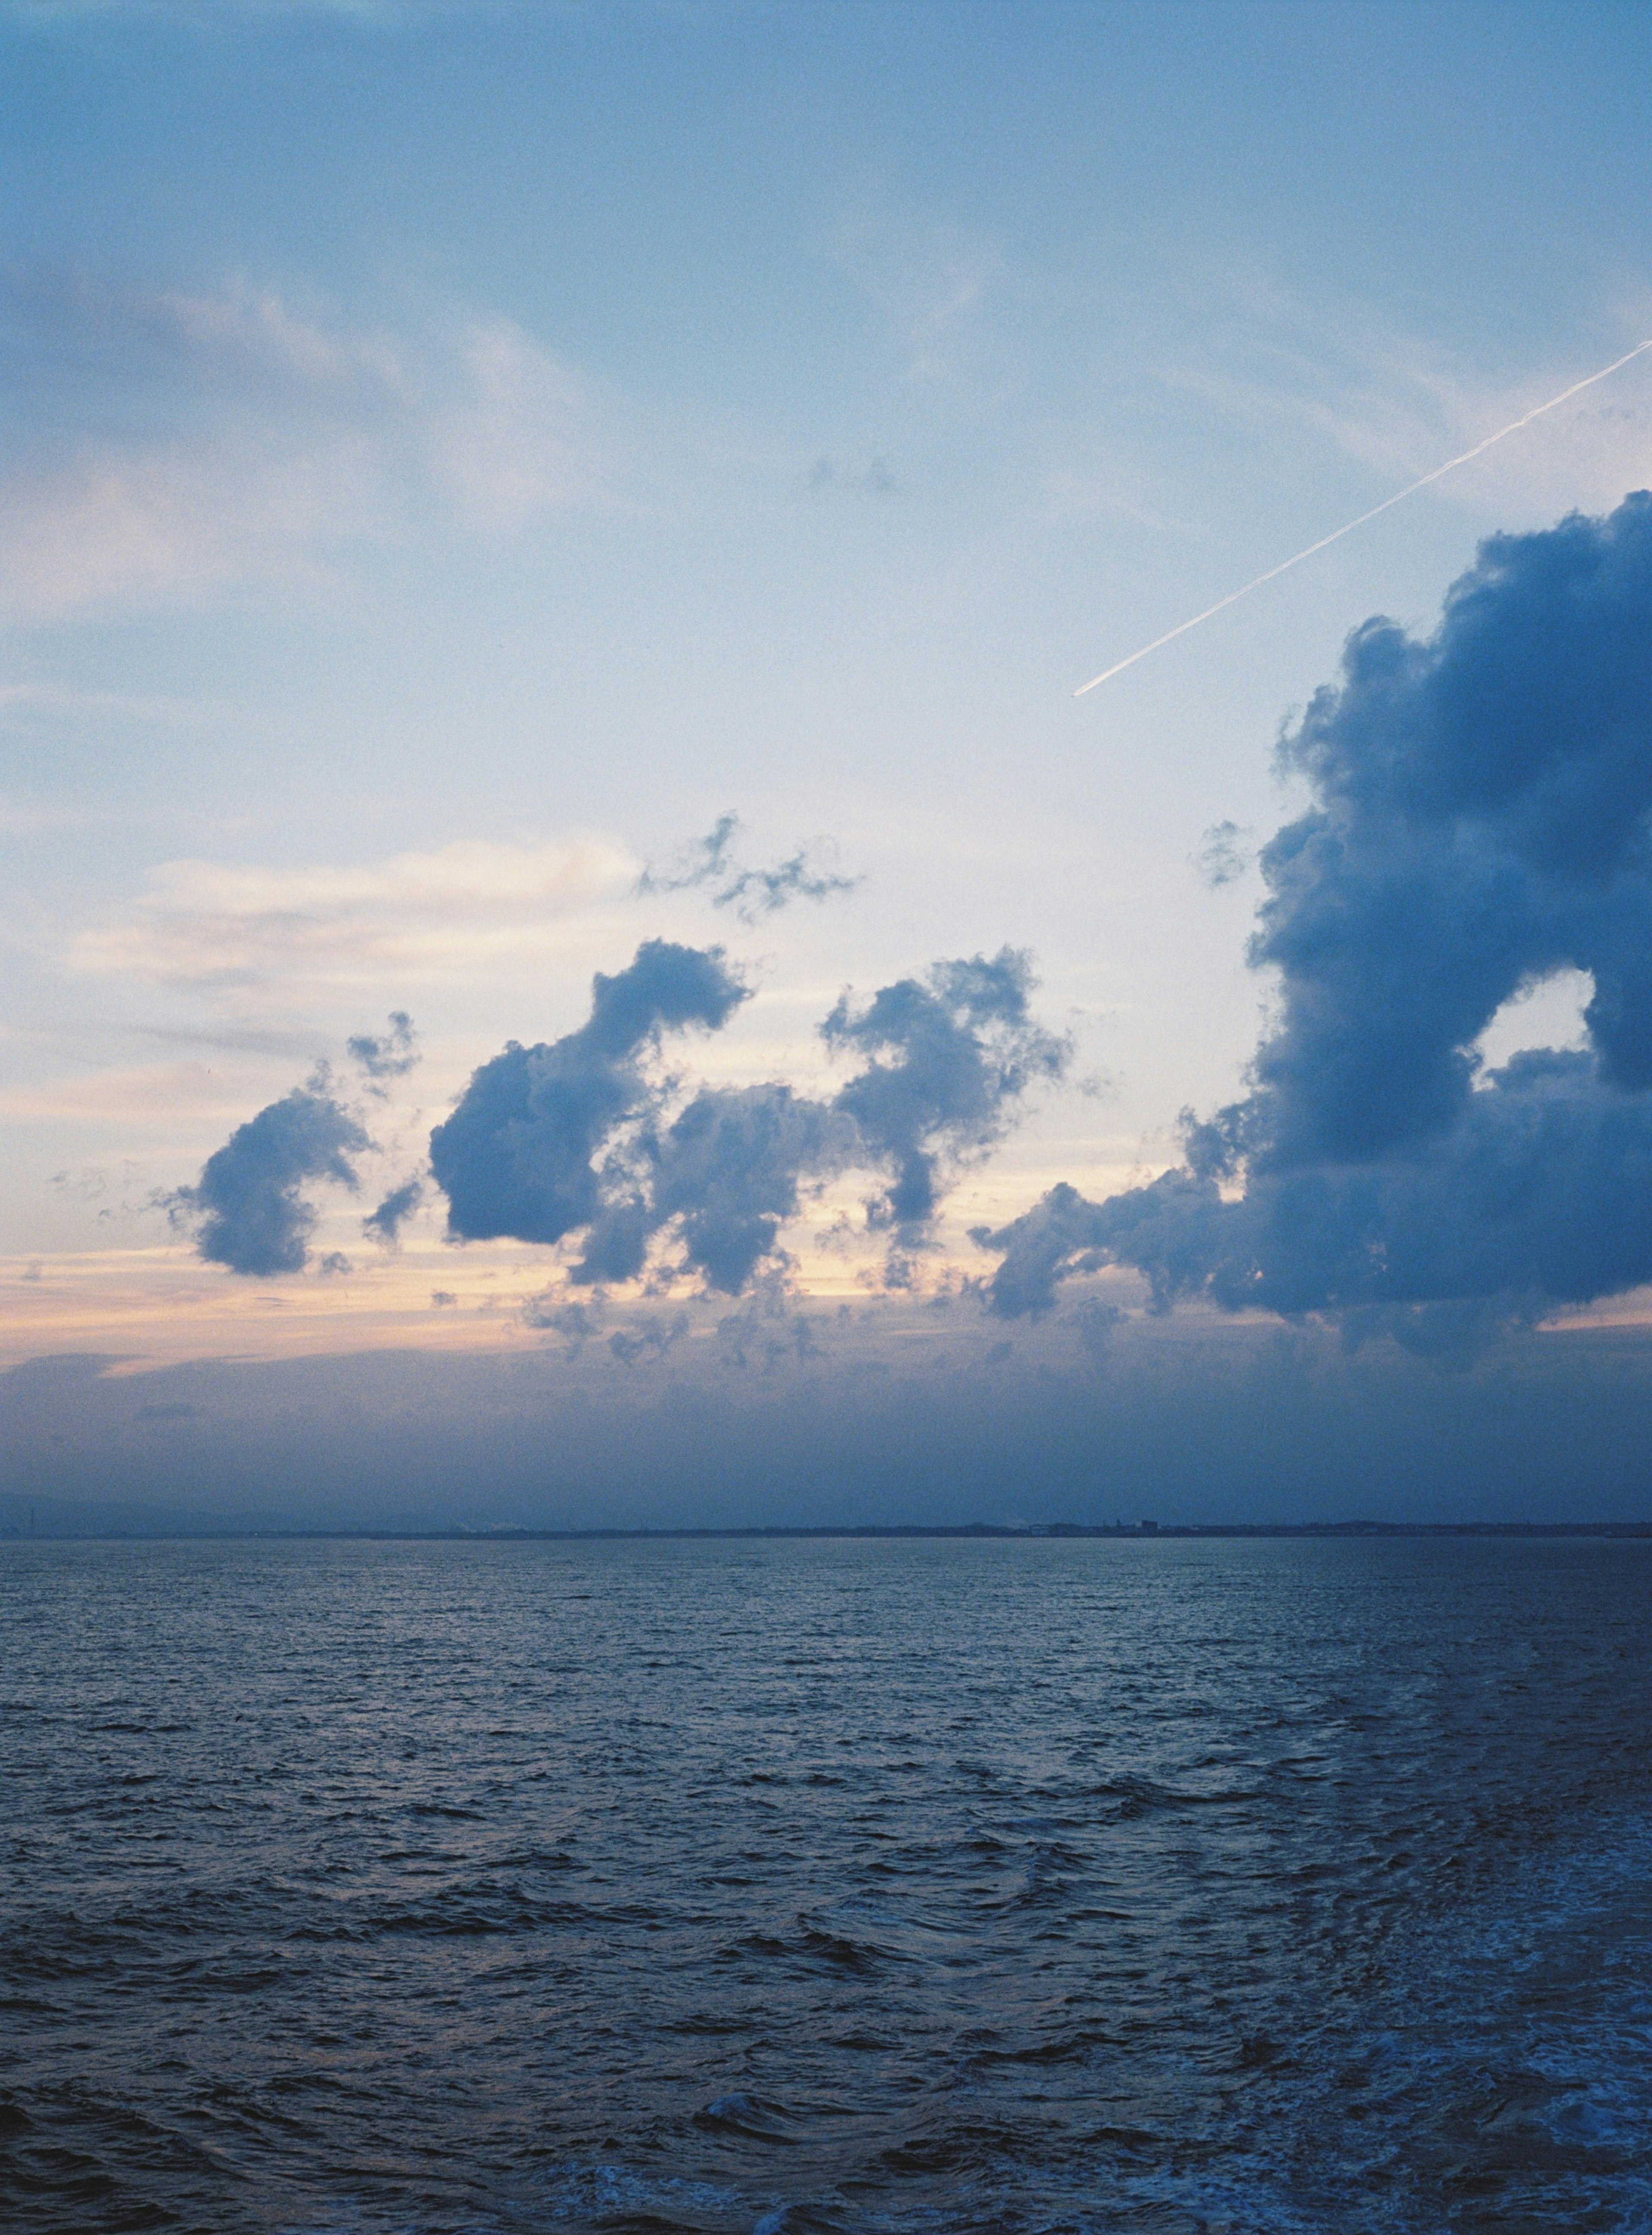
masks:
[(0, 4), (0, 1524), (1652, 1518), (1639, 7)]

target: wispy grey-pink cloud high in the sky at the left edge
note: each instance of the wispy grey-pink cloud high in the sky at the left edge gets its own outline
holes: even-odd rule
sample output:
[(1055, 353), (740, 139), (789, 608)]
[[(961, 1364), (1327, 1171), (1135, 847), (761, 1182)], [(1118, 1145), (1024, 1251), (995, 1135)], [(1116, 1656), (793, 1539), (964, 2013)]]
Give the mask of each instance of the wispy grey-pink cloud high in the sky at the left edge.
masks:
[(510, 534), (601, 503), (617, 451), (595, 387), (501, 317), (360, 331), (246, 279), (11, 270), (0, 335), (0, 610), (25, 621), (320, 583), (431, 507)]

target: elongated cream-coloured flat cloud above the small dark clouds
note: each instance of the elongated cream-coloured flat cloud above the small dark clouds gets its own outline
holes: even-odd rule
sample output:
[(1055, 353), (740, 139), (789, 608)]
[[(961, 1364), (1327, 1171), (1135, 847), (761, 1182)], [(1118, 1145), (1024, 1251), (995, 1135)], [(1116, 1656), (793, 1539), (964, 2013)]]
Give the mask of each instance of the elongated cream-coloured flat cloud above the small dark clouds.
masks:
[[(172, 860), (125, 921), (83, 932), (69, 961), (165, 986), (469, 977), (550, 952), (561, 921), (624, 892), (635, 874), (635, 860), (604, 838), (463, 838), (431, 854), (313, 869)], [(371, 1046), (400, 1059), (393, 1030)]]

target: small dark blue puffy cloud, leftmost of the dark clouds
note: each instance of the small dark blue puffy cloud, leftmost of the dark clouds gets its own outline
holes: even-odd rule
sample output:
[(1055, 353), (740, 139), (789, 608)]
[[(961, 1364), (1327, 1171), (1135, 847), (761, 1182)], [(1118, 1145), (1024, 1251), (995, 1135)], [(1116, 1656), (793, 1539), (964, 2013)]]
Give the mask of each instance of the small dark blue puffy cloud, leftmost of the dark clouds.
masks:
[(163, 1205), (177, 1225), (194, 1229), (194, 1247), (210, 1265), (257, 1278), (302, 1272), (317, 1218), (304, 1185), (355, 1187), (351, 1158), (367, 1149), (367, 1133), (317, 1071), (237, 1126), (194, 1187), (179, 1187)]

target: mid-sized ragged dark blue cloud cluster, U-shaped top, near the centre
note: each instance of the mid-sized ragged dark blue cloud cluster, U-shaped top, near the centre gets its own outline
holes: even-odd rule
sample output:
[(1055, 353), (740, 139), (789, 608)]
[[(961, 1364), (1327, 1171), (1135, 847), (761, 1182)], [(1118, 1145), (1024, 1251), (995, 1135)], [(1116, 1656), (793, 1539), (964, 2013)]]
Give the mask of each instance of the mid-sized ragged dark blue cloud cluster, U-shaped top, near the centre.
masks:
[(1037, 1026), (1024, 954), (934, 963), (845, 995), (820, 1033), (870, 1057), (836, 1095), (782, 1082), (702, 1086), (675, 1106), (657, 1080), (664, 1033), (718, 1030), (747, 999), (720, 948), (646, 941), (628, 970), (597, 977), (586, 1026), (550, 1046), (512, 1042), (469, 1080), (431, 1133), (454, 1240), (583, 1236), (577, 1283), (635, 1281), (671, 1229), (675, 1272), (740, 1294), (778, 1254), (809, 1187), (861, 1167), (887, 1178), (870, 1207), (896, 1249), (923, 1245), (952, 1173), (997, 1142), (1013, 1104), (1066, 1064)]

